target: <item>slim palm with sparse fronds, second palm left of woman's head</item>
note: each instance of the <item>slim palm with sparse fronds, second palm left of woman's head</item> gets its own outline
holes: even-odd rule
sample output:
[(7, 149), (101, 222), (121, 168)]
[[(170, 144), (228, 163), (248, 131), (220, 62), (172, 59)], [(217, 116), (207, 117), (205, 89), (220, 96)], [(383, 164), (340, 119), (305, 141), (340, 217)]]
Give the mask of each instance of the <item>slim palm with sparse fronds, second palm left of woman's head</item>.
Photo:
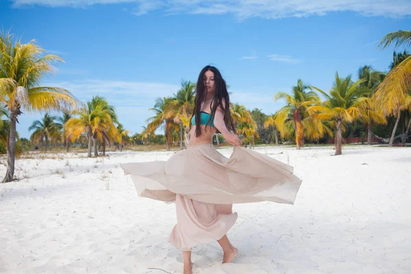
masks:
[(171, 101), (171, 97), (164, 97), (164, 98), (157, 98), (155, 99), (154, 108), (150, 108), (155, 112), (155, 115), (147, 119), (147, 132), (153, 134), (158, 127), (164, 129), (164, 136), (166, 137), (166, 145), (167, 151), (170, 150), (171, 144), (171, 133), (173, 130), (173, 126), (175, 125), (173, 119), (169, 116), (167, 110), (169, 109), (169, 103)]

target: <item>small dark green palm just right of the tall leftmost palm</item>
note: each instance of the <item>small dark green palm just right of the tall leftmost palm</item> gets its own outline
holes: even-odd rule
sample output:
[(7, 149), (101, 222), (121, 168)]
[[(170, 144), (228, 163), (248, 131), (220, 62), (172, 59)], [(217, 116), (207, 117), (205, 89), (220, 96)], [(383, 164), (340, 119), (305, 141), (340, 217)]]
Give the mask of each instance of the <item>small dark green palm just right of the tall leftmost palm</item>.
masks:
[(34, 130), (32, 136), (30, 136), (30, 140), (34, 142), (42, 142), (44, 138), (46, 152), (49, 148), (49, 141), (60, 139), (60, 131), (63, 128), (63, 125), (56, 123), (55, 120), (57, 120), (57, 117), (50, 116), (46, 113), (41, 121), (36, 120), (29, 127), (29, 132)]

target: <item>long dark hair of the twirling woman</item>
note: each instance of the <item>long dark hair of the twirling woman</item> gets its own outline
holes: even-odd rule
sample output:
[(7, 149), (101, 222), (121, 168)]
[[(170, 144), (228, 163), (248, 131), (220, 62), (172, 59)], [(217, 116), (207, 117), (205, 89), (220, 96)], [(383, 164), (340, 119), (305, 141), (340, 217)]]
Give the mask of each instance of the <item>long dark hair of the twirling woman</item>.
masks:
[[(195, 88), (195, 107), (192, 113), (192, 116), (195, 115), (195, 124), (200, 125), (200, 112), (201, 112), (201, 103), (205, 101), (207, 91), (204, 87), (204, 78), (207, 71), (211, 71), (214, 73), (214, 83), (216, 87), (216, 91), (214, 92), (214, 98), (211, 103), (211, 113), (210, 119), (208, 119), (206, 128), (210, 126), (211, 119), (214, 119), (214, 114), (216, 113), (216, 109), (218, 106), (224, 110), (224, 123), (229, 132), (236, 132), (236, 128), (234, 127), (234, 121), (231, 116), (231, 112), (229, 111), (229, 95), (227, 91), (227, 84), (225, 84), (225, 80), (221, 76), (220, 71), (215, 66), (205, 66), (200, 74), (199, 79), (197, 80), (197, 86)], [(223, 105), (223, 99), (225, 101)], [(191, 117), (192, 117), (191, 116)], [(191, 119), (190, 119), (190, 127), (191, 127)], [(201, 127), (195, 128), (195, 136), (201, 136)]]

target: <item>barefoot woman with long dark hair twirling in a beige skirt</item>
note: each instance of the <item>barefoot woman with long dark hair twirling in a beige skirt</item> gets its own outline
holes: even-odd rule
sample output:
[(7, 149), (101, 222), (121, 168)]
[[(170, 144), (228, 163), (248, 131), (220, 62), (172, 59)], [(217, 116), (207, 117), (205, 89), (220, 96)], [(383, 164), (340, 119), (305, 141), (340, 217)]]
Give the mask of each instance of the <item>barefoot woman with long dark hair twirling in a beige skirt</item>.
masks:
[[(294, 203), (301, 185), (291, 166), (240, 147), (227, 86), (214, 66), (199, 75), (190, 126), (188, 148), (168, 161), (121, 165), (140, 196), (175, 202), (177, 225), (170, 242), (183, 251), (184, 274), (192, 273), (191, 247), (201, 243), (216, 240), (223, 263), (234, 260), (238, 251), (225, 235), (237, 219), (232, 203)], [(229, 159), (212, 145), (217, 130), (235, 146)]]

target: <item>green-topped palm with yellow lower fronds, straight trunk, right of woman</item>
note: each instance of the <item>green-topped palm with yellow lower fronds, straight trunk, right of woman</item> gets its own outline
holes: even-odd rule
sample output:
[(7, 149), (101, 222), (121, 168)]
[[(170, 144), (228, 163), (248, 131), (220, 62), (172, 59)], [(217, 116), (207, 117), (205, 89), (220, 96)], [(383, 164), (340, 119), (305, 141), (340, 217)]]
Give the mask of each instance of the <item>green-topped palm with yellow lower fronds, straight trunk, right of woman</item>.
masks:
[(351, 75), (340, 78), (338, 73), (336, 73), (336, 79), (332, 89), (329, 91), (329, 95), (323, 92), (323, 90), (313, 87), (321, 92), (327, 100), (323, 102), (323, 105), (310, 106), (308, 112), (316, 119), (334, 122), (336, 131), (335, 155), (342, 154), (343, 124), (352, 122), (360, 116), (360, 108), (356, 104), (358, 99), (368, 92), (368, 90), (358, 88), (363, 82), (365, 82), (364, 79), (353, 82)]

